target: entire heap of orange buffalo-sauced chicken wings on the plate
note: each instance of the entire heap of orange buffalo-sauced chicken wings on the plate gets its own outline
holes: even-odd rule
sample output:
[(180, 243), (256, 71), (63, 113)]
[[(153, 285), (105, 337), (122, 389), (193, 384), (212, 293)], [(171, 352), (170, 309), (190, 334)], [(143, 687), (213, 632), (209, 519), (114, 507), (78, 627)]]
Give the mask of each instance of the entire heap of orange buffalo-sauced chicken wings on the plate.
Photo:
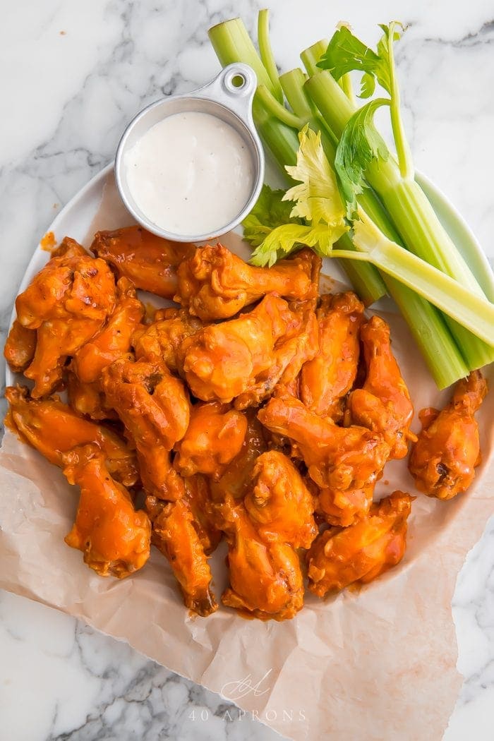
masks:
[[(53, 250), (16, 300), (4, 352), (32, 382), (7, 388), (7, 423), (79, 485), (65, 540), (98, 574), (133, 574), (153, 544), (204, 617), (224, 538), (223, 604), (287, 619), (304, 574), (324, 597), (401, 560), (414, 497), (374, 503), (373, 491), (410, 443), (425, 494), (472, 482), (481, 373), (421, 411), (417, 438), (387, 323), (354, 293), (319, 296), (310, 250), (253, 268), (141, 227), (96, 233), (90, 250), (70, 238)], [(137, 289), (176, 305), (153, 308)]]

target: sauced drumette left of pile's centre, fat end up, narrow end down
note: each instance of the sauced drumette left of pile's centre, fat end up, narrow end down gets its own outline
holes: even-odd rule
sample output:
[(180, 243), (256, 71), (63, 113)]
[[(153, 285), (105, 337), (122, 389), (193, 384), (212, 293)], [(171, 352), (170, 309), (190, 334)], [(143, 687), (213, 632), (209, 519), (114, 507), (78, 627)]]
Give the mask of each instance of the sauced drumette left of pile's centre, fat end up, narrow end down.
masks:
[(170, 451), (189, 425), (183, 383), (163, 363), (128, 356), (104, 368), (101, 385), (135, 442), (144, 491), (161, 499), (182, 496), (183, 482), (171, 466)]

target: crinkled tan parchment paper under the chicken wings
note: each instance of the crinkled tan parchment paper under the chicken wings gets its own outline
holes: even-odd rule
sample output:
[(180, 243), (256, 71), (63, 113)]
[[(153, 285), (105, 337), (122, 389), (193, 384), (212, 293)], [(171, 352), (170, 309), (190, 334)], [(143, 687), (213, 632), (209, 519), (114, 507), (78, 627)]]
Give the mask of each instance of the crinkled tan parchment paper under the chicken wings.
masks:
[[(92, 230), (121, 223), (108, 214), (105, 221), (102, 212)], [(444, 403), (447, 393), (438, 394), (404, 322), (379, 313), (391, 324), (415, 409)], [(438, 741), (462, 682), (451, 614), (455, 579), (494, 511), (493, 417), (491, 391), (478, 414), (484, 462), (472, 488), (450, 502), (418, 494), (401, 565), (359, 594), (326, 601), (307, 594), (304, 609), (281, 623), (245, 620), (222, 606), (207, 619), (190, 617), (156, 551), (122, 581), (94, 574), (64, 543), (78, 489), (7, 431), (0, 451), (0, 587), (124, 639), (293, 739)], [(378, 498), (395, 488), (417, 494), (404, 461), (387, 465)], [(217, 597), (225, 572), (219, 549)]]

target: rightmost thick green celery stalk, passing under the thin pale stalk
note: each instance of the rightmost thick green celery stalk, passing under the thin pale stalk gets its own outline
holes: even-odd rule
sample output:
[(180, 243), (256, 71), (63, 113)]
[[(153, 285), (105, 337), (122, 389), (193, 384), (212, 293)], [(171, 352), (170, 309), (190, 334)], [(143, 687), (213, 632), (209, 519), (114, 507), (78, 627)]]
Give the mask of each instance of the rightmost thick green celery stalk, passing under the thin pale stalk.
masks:
[[(316, 72), (304, 87), (321, 116), (339, 138), (355, 113), (355, 107), (327, 70)], [(483, 296), (475, 276), (439, 222), (421, 187), (415, 180), (401, 177), (395, 159), (390, 156), (386, 162), (373, 162), (368, 167), (367, 178), (381, 196), (393, 222), (398, 225), (404, 244), (433, 267), (461, 281), (477, 296)], [(447, 324), (470, 370), (493, 362), (492, 345), (482, 342), (475, 333), (458, 325), (450, 316), (447, 317)]]

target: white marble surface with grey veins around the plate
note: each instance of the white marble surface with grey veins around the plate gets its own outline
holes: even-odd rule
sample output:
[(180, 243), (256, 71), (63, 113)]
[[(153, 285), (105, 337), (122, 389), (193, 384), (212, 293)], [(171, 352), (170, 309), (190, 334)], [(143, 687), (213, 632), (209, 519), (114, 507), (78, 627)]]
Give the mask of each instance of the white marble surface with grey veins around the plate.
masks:
[[(467, 216), (492, 258), (492, 3), (271, 0), (270, 6), (284, 69), (340, 19), (370, 40), (377, 22), (397, 18), (410, 25), (398, 67), (416, 165)], [(257, 8), (256, 0), (1, 4), (2, 332), (39, 236), (110, 162), (125, 122), (162, 93), (190, 90), (213, 76), (218, 66), (207, 28), (237, 14), (252, 27)], [(458, 577), (453, 615), (465, 682), (444, 739), (488, 741), (494, 726), (493, 521)], [(0, 593), (0, 719), (1, 741), (277, 737), (127, 645), (6, 593)]]

